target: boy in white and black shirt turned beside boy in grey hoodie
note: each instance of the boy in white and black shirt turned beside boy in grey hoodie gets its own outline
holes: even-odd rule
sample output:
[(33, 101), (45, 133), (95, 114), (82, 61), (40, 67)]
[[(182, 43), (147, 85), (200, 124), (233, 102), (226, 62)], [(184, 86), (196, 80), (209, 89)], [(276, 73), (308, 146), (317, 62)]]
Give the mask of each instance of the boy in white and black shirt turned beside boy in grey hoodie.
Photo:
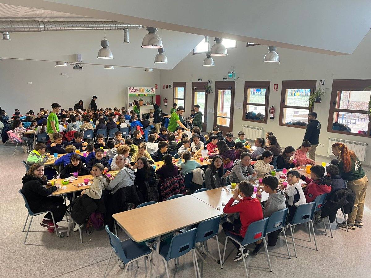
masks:
[(289, 211), (287, 214), (287, 219), (289, 221), (291, 221), (294, 217), (296, 208), (306, 203), (304, 191), (299, 183), (299, 179), (300, 173), (298, 171), (291, 170), (287, 172), (287, 188), (285, 189), (283, 185), (280, 185), (280, 189), (283, 190), (285, 196), (288, 197), (287, 207)]

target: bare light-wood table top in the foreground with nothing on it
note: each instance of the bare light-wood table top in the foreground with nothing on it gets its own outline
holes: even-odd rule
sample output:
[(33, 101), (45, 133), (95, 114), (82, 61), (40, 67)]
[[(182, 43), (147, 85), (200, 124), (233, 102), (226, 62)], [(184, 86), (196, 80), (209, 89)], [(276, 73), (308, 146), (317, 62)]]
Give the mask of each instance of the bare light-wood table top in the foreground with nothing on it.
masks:
[(191, 195), (114, 214), (117, 224), (136, 242), (221, 215), (222, 212)]

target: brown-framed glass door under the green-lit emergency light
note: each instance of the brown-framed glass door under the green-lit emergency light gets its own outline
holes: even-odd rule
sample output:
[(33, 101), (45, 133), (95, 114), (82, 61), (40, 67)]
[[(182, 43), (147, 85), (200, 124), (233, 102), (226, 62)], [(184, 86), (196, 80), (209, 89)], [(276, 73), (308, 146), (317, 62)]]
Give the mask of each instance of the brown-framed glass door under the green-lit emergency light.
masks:
[(223, 135), (233, 129), (234, 82), (215, 82), (214, 123)]

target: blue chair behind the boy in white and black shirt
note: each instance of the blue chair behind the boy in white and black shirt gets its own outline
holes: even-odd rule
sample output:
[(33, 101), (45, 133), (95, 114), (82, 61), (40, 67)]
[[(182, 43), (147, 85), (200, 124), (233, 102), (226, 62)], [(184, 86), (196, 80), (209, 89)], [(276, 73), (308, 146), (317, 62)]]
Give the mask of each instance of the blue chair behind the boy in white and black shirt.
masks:
[(318, 251), (316, 235), (314, 233), (314, 227), (313, 227), (313, 221), (312, 221), (315, 209), (316, 209), (316, 202), (310, 202), (310, 203), (305, 203), (305, 204), (299, 205), (298, 208), (296, 208), (296, 212), (295, 212), (292, 220), (288, 223), (289, 227), (290, 227), (292, 245), (294, 246), (294, 252), (295, 252), (295, 257), (296, 258), (298, 256), (296, 255), (296, 246), (295, 246), (295, 242), (294, 242), (294, 235), (293, 235), (292, 227), (295, 226), (295, 225), (298, 225), (298, 224), (309, 222), (309, 225), (308, 225), (309, 242), (312, 242), (312, 239), (311, 239), (311, 227), (312, 227), (313, 236), (314, 236), (314, 243), (316, 245), (316, 250)]

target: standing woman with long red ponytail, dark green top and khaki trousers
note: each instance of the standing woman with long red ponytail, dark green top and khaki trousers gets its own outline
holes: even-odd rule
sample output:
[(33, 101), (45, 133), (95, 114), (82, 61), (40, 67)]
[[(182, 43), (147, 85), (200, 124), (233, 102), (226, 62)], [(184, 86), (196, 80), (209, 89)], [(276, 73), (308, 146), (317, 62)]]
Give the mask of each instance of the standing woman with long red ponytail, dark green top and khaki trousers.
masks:
[[(354, 151), (348, 150), (342, 143), (335, 143), (331, 146), (332, 153), (339, 156), (338, 168), (341, 177), (348, 181), (348, 188), (355, 192), (353, 211), (348, 214), (348, 228), (354, 230), (355, 226), (362, 228), (363, 208), (366, 198), (368, 179), (362, 169), (361, 162)], [(339, 226), (346, 228), (345, 222)]]

